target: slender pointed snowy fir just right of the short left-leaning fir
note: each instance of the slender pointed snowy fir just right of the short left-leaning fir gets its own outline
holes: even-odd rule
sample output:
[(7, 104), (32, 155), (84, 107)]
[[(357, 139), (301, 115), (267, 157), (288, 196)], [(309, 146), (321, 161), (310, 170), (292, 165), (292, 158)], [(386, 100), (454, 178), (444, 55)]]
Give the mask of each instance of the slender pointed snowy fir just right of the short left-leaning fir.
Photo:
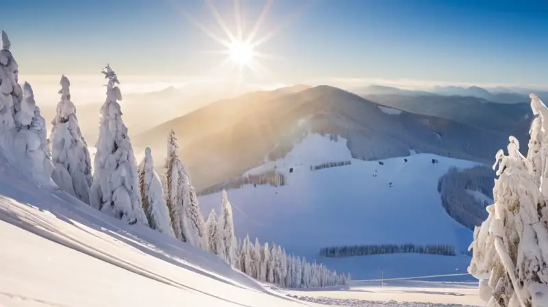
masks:
[(169, 209), (169, 217), (171, 218), (175, 238), (186, 242), (181, 225), (185, 183), (184, 176), (182, 175), (184, 167), (177, 154), (177, 149), (179, 149), (177, 138), (175, 138), (175, 132), (171, 130), (167, 138), (167, 158), (164, 164), (162, 187), (164, 188), (164, 199)]

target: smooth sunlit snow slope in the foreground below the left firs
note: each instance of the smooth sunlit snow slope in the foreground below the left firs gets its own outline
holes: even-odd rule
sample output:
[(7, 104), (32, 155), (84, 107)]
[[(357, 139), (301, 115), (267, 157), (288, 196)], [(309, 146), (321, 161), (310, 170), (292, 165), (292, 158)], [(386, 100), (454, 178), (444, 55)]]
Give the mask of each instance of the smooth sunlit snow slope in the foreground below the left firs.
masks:
[(0, 171), (0, 306), (302, 306), (212, 254)]

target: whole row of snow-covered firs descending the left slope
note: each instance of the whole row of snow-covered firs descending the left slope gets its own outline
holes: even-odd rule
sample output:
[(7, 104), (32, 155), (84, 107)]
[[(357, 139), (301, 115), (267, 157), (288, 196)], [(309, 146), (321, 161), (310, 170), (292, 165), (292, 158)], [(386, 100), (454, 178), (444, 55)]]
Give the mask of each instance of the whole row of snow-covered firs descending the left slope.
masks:
[(266, 267), (266, 279), (262, 280), (282, 286), (345, 284), (346, 275), (304, 259), (299, 262), (299, 258), (295, 260), (294, 256), (288, 256), (275, 244), (272, 249), (266, 248), (266, 244), (262, 247), (265, 255), (262, 258), (255, 253), (260, 245), (236, 243), (232, 206), (225, 191), (220, 217), (214, 218), (210, 214), (206, 223), (190, 175), (178, 156), (173, 130), (167, 138), (168, 154), (162, 177), (153, 169), (150, 148), (145, 149), (145, 158), (137, 164), (118, 102), (122, 99), (120, 82), (110, 65), (102, 71), (106, 79), (106, 99), (99, 113), (99, 138), (93, 167), (71, 101), (71, 82), (64, 75), (60, 79), (61, 99), (47, 138), (45, 119), (36, 106), (32, 87), (26, 82), (23, 86), (18, 84), (18, 65), (10, 52), (11, 43), (5, 32), (2, 32), (2, 41), (0, 148), (8, 162), (21, 169), (29, 179), (38, 184), (50, 184), (53, 180), (62, 191), (104, 214), (130, 225), (145, 225), (211, 251), (253, 278), (263, 275), (250, 271), (251, 263), (251, 267)]

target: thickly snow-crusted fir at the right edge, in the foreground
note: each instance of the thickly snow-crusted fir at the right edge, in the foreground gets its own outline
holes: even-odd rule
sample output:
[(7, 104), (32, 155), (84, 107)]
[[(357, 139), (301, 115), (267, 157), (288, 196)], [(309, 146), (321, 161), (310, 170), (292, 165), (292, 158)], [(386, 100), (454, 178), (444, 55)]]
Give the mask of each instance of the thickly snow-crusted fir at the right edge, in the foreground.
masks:
[[(489, 307), (548, 306), (548, 114), (531, 95), (532, 123), (527, 158), (510, 136), (508, 156), (498, 164), (488, 218), (474, 231), (469, 273), (480, 280), (480, 296)], [(539, 154), (540, 153), (540, 154)]]

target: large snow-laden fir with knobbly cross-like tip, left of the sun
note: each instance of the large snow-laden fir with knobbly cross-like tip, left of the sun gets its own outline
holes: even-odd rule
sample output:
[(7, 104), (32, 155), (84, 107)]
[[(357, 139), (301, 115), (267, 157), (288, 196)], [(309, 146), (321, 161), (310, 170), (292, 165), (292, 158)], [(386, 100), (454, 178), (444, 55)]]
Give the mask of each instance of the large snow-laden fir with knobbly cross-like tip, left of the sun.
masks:
[(95, 172), (90, 205), (127, 223), (148, 225), (142, 210), (137, 164), (118, 100), (122, 99), (116, 73), (103, 69), (107, 98), (100, 112), (99, 139), (95, 147)]

